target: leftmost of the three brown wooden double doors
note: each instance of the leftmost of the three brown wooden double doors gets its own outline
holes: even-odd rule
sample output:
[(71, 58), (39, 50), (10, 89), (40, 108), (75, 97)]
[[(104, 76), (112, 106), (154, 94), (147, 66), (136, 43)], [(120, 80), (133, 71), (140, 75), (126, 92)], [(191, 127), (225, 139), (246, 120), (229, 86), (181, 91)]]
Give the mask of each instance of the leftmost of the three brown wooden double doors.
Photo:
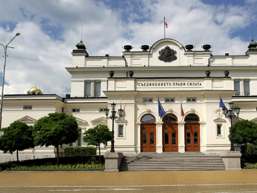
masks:
[(156, 152), (156, 124), (141, 124), (141, 152)]

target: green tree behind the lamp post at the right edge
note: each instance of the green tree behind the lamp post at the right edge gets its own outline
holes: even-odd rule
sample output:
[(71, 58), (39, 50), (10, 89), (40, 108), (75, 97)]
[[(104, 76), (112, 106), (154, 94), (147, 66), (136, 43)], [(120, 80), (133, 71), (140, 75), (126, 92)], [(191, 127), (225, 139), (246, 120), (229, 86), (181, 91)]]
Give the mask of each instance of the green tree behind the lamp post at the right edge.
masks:
[[(231, 127), (229, 127), (229, 133)], [(229, 140), (231, 134), (228, 135)], [(233, 124), (233, 138), (234, 142), (245, 145), (245, 154), (247, 157), (247, 143), (257, 144), (257, 124), (253, 121), (242, 120)]]

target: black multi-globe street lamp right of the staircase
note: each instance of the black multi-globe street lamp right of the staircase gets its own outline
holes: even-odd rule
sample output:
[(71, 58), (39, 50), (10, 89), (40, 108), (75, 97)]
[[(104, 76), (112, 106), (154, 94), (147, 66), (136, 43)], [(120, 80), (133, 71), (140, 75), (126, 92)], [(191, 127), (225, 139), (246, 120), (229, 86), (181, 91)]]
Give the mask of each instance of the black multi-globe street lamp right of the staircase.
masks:
[(237, 115), (235, 115), (233, 113), (233, 102), (229, 102), (229, 110), (227, 110), (227, 108), (225, 109), (222, 109), (223, 111), (223, 114), (225, 115), (226, 118), (230, 118), (230, 121), (231, 121), (231, 147), (230, 147), (230, 151), (234, 151), (234, 138), (233, 138), (233, 118), (235, 117), (239, 117), (239, 113), (240, 113), (240, 109), (239, 107), (237, 108), (234, 108), (235, 109), (235, 112), (237, 112)]

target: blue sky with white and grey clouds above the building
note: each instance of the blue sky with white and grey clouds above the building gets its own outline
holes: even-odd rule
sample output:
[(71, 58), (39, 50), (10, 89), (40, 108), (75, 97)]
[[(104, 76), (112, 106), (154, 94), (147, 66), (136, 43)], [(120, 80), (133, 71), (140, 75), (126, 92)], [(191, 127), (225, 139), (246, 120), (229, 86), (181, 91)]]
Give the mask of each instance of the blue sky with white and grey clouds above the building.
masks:
[[(245, 55), (257, 40), (257, 0), (0, 0), (0, 44), (7, 49), (4, 94), (70, 94), (71, 52), (81, 40), (90, 56), (121, 56), (166, 38), (213, 55)], [(83, 26), (83, 27), (82, 27)], [(252, 26), (252, 30), (251, 30)], [(81, 35), (82, 31), (82, 35)], [(0, 83), (4, 69), (0, 45)], [(1, 87), (2, 90), (2, 87)]]

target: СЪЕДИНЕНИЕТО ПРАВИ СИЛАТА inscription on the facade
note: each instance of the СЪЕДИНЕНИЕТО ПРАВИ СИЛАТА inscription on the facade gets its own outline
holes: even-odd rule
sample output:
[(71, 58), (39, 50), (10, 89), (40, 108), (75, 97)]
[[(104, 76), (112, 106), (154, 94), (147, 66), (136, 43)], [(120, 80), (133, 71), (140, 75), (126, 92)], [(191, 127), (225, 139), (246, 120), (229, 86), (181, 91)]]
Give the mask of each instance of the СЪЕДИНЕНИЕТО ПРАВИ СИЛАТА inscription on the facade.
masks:
[(138, 82), (138, 87), (203, 87), (203, 82)]

